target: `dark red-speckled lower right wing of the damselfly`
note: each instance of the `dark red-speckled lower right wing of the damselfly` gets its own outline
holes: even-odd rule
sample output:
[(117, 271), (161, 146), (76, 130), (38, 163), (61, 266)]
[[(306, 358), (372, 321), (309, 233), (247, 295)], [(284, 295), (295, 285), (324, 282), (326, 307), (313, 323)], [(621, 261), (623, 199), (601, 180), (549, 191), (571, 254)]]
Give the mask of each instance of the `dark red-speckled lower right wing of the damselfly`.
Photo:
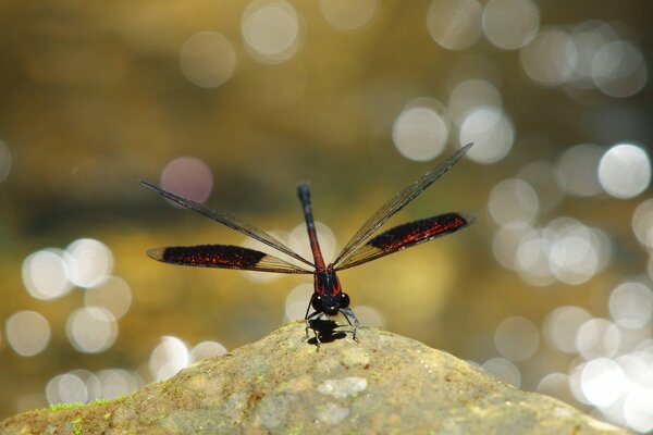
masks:
[(352, 252), (335, 270), (353, 268), (380, 257), (454, 233), (473, 222), (472, 214), (446, 213), (395, 226)]

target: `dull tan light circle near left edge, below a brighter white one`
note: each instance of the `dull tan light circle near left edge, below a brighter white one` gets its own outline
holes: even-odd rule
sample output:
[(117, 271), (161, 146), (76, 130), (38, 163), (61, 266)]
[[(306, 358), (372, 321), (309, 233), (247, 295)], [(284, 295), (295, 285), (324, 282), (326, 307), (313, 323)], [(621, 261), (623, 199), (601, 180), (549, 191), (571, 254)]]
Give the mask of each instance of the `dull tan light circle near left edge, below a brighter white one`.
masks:
[(50, 323), (36, 311), (19, 311), (4, 324), (7, 341), (22, 357), (40, 353), (50, 343)]

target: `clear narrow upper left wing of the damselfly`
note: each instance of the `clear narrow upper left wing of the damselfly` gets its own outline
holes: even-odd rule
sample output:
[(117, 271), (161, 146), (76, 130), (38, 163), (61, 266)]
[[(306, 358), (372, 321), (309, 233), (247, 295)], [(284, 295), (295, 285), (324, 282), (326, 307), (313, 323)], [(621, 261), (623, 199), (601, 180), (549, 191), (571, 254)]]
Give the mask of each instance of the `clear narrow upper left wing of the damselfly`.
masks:
[(144, 185), (145, 187), (149, 187), (150, 189), (155, 190), (159, 195), (170, 199), (171, 201), (173, 201), (175, 203), (178, 203), (180, 206), (190, 209), (204, 216), (207, 216), (215, 222), (221, 223), (222, 225), (229, 226), (230, 228), (233, 228), (243, 234), (246, 234), (249, 237), (255, 238), (255, 239), (259, 240), (260, 243), (266, 244), (266, 245), (276, 249), (278, 251), (281, 251), (287, 256), (291, 256), (292, 258), (294, 258), (296, 260), (301, 261), (303, 263), (310, 265), (311, 268), (315, 268), (313, 263), (306, 260), (304, 257), (301, 257), (300, 254), (298, 254), (297, 252), (295, 252), (294, 250), (292, 250), (291, 248), (285, 246), (276, 237), (273, 237), (272, 235), (266, 233), (264, 231), (250, 224), (249, 222), (246, 222), (239, 217), (236, 217), (236, 216), (231, 215), (223, 211), (215, 211), (215, 210), (208, 209), (208, 208), (204, 207), (202, 204), (197, 203), (188, 198), (180, 197), (178, 195), (174, 195), (174, 194), (171, 194), (170, 191), (163, 190), (163, 189), (155, 186), (151, 183), (140, 181), (140, 184)]

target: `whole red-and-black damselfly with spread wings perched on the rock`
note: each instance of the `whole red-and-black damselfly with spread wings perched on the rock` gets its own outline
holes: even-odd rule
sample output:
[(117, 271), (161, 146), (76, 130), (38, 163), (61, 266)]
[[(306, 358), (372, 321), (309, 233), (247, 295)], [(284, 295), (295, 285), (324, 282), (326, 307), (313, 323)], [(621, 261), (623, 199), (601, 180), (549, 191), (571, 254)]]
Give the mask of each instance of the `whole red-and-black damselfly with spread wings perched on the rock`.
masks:
[(297, 263), (291, 263), (279, 257), (256, 249), (233, 245), (152, 248), (147, 251), (147, 254), (163, 263), (195, 268), (235, 269), (242, 271), (286, 274), (312, 274), (313, 294), (310, 297), (306, 309), (306, 315), (304, 316), (306, 321), (306, 338), (308, 338), (309, 335), (308, 331), (313, 330), (319, 346), (320, 339), (318, 331), (311, 327), (311, 322), (317, 322), (324, 316), (334, 318), (338, 313), (342, 313), (353, 328), (353, 338), (357, 339), (356, 333), (360, 323), (352, 308), (349, 308), (350, 299), (349, 296), (343, 291), (337, 272), (433, 240), (438, 237), (469, 226), (475, 219), (472, 213), (448, 212), (408, 222), (372, 237), (372, 235), (374, 235), (389, 219), (406, 207), (424, 191), (424, 189), (452, 169), (452, 166), (454, 166), (469, 150), (471, 145), (472, 144), (468, 144), (460, 148), (441, 165), (427, 172), (389, 199), (362, 224), (362, 226), (360, 226), (356, 234), (345, 245), (337, 258), (329, 264), (324, 261), (320, 249), (318, 233), (312, 215), (310, 191), (307, 183), (297, 185), (297, 195), (304, 211), (304, 219), (306, 221), (313, 261), (307, 260), (287, 247), (278, 237), (260, 229), (243, 219), (224, 211), (211, 210), (188, 198), (167, 191), (146, 181), (140, 181), (145, 187), (155, 190), (172, 202), (241, 232), (279, 252), (297, 260)]

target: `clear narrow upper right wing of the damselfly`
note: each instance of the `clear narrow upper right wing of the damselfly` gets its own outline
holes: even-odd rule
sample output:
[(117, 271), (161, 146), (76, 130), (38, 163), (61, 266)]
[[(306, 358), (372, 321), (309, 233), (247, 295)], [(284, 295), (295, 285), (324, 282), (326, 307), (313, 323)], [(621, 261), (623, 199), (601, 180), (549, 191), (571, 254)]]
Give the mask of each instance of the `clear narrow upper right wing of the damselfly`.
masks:
[(404, 190), (399, 191), (387, 202), (385, 202), (365, 224), (362, 224), (362, 226), (360, 227), (360, 229), (358, 229), (354, 237), (352, 237), (352, 239), (343, 248), (340, 256), (337, 256), (337, 258), (333, 262), (333, 265), (336, 269), (343, 269), (341, 266), (345, 263), (348, 263), (347, 257), (356, 249), (356, 247), (362, 244), (396, 212), (406, 207), (408, 202), (417, 198), (417, 196), (421, 194), (427, 187), (435, 183), (438, 178), (444, 175), (444, 173), (446, 173), (454, 164), (456, 164), (458, 160), (460, 160), (463, 156), (465, 156), (465, 153), (470, 147), (471, 144), (467, 144), (452, 157), (446, 159), (446, 161), (440, 166), (427, 172), (424, 175), (416, 179), (412, 184), (404, 188)]

